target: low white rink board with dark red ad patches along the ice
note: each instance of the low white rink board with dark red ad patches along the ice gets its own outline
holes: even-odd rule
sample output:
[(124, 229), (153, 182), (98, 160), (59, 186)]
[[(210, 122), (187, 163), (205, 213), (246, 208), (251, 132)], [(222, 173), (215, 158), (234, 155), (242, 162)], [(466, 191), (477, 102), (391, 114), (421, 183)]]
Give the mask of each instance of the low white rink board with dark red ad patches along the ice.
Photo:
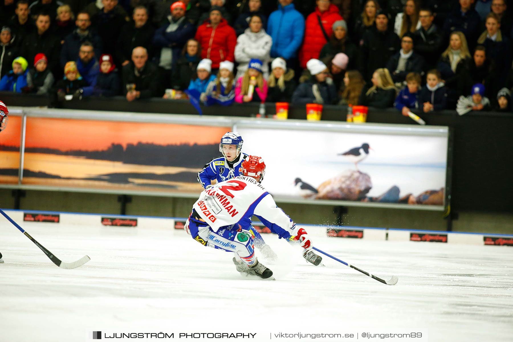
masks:
[[(187, 218), (183, 217), (153, 217), (153, 216), (129, 216), (110, 214), (85, 214), (52, 211), (32, 210), (5, 210), (5, 212), (22, 227), (29, 229), (31, 225), (81, 225), (87, 227), (119, 226), (140, 229), (156, 228), (170, 229), (176, 234), (182, 234), (181, 229)], [(255, 222), (256, 226), (263, 226)], [(490, 245), (490, 246), (513, 246), (513, 235), (469, 233), (469, 232), (447, 232), (429, 230), (408, 230), (408, 229), (387, 229), (375, 227), (356, 226), (325, 226), (305, 225), (311, 236), (330, 236), (333, 238), (356, 238), (372, 241), (413, 241), (419, 243), (448, 243), (460, 245)], [(263, 235), (265, 236), (265, 235)]]

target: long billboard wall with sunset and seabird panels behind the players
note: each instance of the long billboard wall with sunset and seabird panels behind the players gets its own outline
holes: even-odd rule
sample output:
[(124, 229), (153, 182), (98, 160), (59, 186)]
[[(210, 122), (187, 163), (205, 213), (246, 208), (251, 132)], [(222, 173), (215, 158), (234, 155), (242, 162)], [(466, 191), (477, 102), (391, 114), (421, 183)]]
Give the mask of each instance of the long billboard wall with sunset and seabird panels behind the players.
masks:
[[(197, 197), (228, 131), (264, 157), (278, 202), (444, 211), (452, 148), (444, 126), (306, 122), (86, 110), (13, 110), (0, 188)], [(286, 171), (286, 172), (285, 172)]]

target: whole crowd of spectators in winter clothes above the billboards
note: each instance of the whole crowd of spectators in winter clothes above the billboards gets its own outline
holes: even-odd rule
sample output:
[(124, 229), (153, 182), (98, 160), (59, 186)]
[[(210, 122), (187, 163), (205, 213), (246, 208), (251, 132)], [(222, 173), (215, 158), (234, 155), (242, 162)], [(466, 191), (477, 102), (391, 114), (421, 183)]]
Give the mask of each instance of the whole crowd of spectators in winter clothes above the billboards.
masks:
[(511, 112), (512, 0), (0, 0), (0, 91)]

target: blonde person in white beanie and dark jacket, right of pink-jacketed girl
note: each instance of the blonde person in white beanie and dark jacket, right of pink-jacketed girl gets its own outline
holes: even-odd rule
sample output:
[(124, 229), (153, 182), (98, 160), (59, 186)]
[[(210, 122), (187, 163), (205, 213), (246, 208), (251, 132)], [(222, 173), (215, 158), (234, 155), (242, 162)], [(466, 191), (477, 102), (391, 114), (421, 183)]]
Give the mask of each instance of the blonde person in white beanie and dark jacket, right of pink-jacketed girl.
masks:
[(267, 102), (290, 102), (296, 87), (294, 70), (287, 70), (285, 59), (278, 57), (272, 61), (271, 71), (267, 83)]

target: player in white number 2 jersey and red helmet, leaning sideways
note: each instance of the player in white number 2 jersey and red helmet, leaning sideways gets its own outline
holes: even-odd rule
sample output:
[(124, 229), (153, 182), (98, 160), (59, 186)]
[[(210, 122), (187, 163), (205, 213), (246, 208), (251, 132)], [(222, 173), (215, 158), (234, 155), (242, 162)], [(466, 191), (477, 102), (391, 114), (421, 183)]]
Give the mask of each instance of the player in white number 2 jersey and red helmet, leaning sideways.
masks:
[(260, 184), (265, 173), (263, 159), (248, 156), (242, 169), (243, 175), (215, 184), (201, 193), (185, 228), (204, 246), (234, 252), (233, 262), (239, 272), (269, 278), (272, 271), (262, 265), (254, 253), (253, 236), (249, 233), (253, 214), (271, 231), (293, 237), (291, 240), (299, 242), (305, 250), (310, 251), (312, 244), (306, 231), (297, 229)]

